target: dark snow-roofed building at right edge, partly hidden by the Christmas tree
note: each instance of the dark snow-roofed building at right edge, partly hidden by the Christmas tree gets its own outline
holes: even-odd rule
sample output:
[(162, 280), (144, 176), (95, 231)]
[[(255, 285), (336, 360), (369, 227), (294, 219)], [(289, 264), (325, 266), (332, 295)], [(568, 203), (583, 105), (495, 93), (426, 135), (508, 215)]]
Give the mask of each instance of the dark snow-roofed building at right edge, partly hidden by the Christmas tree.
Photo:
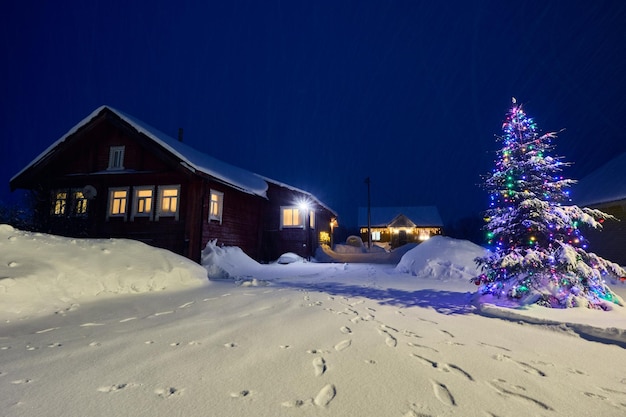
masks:
[(614, 158), (572, 187), (576, 205), (597, 208), (615, 216), (602, 230), (586, 231), (589, 251), (626, 265), (626, 153)]

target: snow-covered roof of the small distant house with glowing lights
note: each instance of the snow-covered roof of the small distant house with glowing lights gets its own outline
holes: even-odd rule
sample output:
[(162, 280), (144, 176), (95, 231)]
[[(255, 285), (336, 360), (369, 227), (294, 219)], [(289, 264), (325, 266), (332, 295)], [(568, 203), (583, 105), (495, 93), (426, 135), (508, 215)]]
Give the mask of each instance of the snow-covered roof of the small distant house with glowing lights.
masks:
[[(416, 207), (371, 207), (372, 227), (387, 227), (394, 221), (406, 219), (415, 223), (415, 226), (443, 227), (443, 221), (436, 206), (416, 206)], [(367, 226), (367, 207), (359, 207), (359, 226)]]

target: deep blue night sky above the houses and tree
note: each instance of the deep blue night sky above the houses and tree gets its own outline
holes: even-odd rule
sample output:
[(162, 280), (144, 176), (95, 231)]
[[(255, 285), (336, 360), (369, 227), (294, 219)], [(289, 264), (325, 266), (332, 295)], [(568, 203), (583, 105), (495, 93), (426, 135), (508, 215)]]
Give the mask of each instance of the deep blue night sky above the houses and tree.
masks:
[(0, 201), (102, 104), (183, 127), (187, 144), (312, 192), (345, 226), (367, 176), (373, 205), (434, 204), (445, 222), (484, 210), (512, 96), (540, 129), (567, 129), (568, 177), (626, 152), (621, 0), (1, 7)]

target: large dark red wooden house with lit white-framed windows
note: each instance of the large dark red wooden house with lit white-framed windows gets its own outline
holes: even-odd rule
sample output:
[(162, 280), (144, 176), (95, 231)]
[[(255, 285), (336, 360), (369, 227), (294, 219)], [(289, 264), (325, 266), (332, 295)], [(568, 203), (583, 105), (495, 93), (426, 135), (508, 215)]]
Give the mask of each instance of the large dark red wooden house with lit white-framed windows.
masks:
[[(200, 261), (210, 240), (259, 261), (330, 243), (336, 213), (306, 191), (200, 153), (108, 106), (10, 180), (42, 231), (130, 238)], [(306, 203), (305, 207), (302, 203)]]

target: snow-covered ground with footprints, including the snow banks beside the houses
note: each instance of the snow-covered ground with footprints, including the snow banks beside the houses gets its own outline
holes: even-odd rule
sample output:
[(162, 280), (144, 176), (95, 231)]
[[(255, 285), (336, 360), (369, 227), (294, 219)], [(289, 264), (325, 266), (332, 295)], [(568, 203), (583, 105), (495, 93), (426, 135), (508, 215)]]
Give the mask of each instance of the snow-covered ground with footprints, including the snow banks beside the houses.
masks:
[(200, 267), (0, 226), (1, 414), (626, 415), (625, 309), (478, 309), (481, 252), (259, 265), (209, 245)]

